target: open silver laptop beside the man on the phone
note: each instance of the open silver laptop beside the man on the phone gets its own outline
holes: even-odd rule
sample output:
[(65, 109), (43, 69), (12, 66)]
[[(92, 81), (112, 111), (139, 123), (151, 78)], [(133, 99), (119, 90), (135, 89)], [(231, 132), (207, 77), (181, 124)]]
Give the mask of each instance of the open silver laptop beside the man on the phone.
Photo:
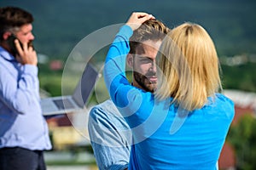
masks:
[(73, 95), (41, 99), (43, 115), (65, 114), (84, 109), (99, 76), (94, 66), (87, 64)]

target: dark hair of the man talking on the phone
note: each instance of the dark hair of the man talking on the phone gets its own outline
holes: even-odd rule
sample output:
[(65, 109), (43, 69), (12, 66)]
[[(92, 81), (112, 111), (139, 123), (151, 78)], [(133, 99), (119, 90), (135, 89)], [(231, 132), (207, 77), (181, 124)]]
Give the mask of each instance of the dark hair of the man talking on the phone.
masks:
[(26, 10), (17, 7), (0, 8), (0, 37), (2, 40), (3, 33), (12, 28), (20, 27), (33, 22), (33, 16)]

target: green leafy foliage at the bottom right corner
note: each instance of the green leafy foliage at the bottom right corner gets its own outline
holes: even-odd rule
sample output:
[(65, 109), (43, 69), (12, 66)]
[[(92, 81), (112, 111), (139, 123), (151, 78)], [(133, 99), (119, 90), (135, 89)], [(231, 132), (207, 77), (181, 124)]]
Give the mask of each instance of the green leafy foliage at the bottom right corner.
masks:
[(256, 119), (250, 114), (242, 116), (230, 127), (227, 140), (236, 150), (237, 169), (256, 169)]

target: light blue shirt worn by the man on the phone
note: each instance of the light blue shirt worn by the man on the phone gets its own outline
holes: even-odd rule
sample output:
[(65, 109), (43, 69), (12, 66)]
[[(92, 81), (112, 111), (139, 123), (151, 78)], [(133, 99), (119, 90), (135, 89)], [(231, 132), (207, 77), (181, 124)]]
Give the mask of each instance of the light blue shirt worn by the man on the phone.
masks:
[(0, 148), (49, 150), (40, 106), (38, 67), (20, 63), (0, 47)]

